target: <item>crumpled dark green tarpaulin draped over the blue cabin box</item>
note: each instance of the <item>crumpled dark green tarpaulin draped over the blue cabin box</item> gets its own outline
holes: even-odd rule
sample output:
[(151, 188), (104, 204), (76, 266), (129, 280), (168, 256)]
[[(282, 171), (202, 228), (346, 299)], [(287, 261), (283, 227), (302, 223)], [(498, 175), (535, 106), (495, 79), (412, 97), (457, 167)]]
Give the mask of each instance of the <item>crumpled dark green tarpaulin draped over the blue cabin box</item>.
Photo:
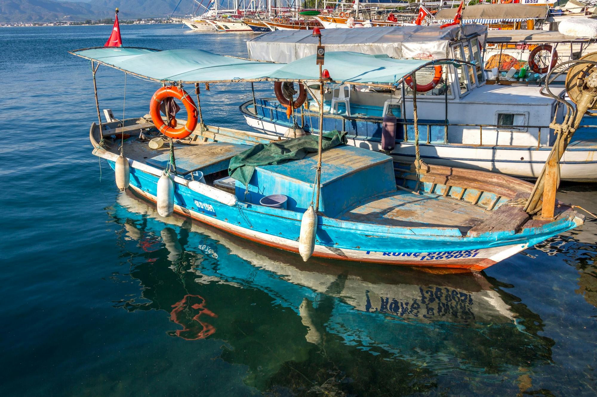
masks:
[[(322, 137), (322, 150), (328, 150), (346, 143), (344, 135), (346, 135), (346, 132), (338, 132), (337, 130), (325, 133)], [(317, 153), (318, 139), (317, 135), (307, 135), (306, 137), (272, 142), (267, 145), (257, 144), (232, 157), (228, 173), (232, 178), (246, 186), (249, 184), (253, 171), (257, 166), (284, 164), (291, 160), (304, 159), (309, 153)]]

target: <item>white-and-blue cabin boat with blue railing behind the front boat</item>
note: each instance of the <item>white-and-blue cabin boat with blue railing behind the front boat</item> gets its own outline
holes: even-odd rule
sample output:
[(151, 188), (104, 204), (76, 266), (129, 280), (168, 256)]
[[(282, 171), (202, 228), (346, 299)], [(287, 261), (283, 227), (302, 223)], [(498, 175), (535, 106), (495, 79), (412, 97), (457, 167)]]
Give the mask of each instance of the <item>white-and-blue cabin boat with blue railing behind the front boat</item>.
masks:
[[(486, 35), (486, 26), (474, 24), (445, 29), (402, 26), (322, 30), (322, 42), (335, 51), (470, 62), (461, 67), (430, 65), (416, 73), (416, 84), (413, 79), (405, 79), (390, 89), (350, 85), (346, 92), (341, 84), (328, 85), (323, 95), (323, 131), (346, 131), (351, 145), (388, 150), (381, 147), (381, 132), (383, 117), (390, 113), (396, 117), (398, 129), (395, 147), (387, 153), (395, 160), (412, 162), (416, 156), (416, 101), (424, 162), (537, 178), (557, 138), (552, 123), (561, 123), (566, 117), (568, 109), (558, 98), (565, 98), (567, 89), (563, 85), (552, 87), (555, 97), (549, 97), (539, 86), (512, 82), (498, 85), (486, 80), (482, 68)], [(254, 59), (289, 62), (315, 54), (316, 40), (309, 32), (272, 32), (247, 42), (247, 48)], [(330, 73), (334, 77), (334, 71), (330, 69)], [(291, 132), (302, 129), (307, 134), (318, 134), (320, 95), (309, 85), (313, 83), (307, 82), (304, 87), (309, 93), (307, 100), (290, 118), (282, 103), (287, 101), (286, 96), (300, 91), (290, 83), (276, 92), (276, 97), (254, 98), (242, 104), (241, 113), (249, 126), (265, 134), (283, 137), (289, 128)], [(337, 101), (341, 96), (346, 103)], [(596, 124), (589, 114), (581, 122), (561, 162), (561, 179), (597, 181)]]

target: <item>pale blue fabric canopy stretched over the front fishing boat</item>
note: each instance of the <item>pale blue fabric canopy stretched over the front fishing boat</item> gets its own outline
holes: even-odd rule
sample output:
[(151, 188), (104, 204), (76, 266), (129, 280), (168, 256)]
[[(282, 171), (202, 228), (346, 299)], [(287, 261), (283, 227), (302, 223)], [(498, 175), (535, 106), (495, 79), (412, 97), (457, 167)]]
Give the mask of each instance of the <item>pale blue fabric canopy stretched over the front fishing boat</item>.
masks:
[[(71, 54), (159, 82), (305, 81), (319, 79), (315, 55), (294, 62), (269, 63), (212, 54), (200, 49), (91, 48)], [(395, 59), (337, 51), (325, 54), (324, 69), (334, 82), (393, 85), (428, 60)], [(446, 63), (438, 62), (438, 63)]]

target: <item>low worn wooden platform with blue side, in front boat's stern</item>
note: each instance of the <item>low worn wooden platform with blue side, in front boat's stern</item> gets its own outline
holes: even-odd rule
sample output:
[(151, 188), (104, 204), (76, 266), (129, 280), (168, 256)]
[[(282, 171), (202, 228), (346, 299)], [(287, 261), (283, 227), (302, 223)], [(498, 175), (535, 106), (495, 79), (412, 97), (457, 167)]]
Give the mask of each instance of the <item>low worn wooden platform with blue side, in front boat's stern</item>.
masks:
[[(176, 170), (179, 175), (187, 175), (201, 170), (205, 175), (228, 168), (230, 159), (236, 154), (250, 148), (248, 145), (231, 144), (227, 142), (209, 143), (203, 145), (176, 145), (174, 157)], [(147, 159), (146, 163), (158, 168), (166, 168), (170, 153), (158, 154)]]

